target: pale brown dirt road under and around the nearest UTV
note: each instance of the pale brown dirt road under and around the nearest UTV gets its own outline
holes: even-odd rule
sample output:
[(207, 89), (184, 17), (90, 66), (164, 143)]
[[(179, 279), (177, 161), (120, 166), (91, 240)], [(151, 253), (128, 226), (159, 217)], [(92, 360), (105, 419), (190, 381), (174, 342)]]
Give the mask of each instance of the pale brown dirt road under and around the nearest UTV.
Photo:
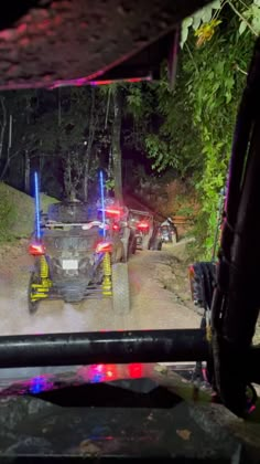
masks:
[[(129, 262), (131, 313), (115, 314), (110, 299), (42, 302), (28, 310), (31, 257), (26, 242), (0, 249), (0, 335), (95, 330), (195, 328), (180, 244), (161, 252), (138, 252)], [(8, 260), (7, 260), (8, 256)]]

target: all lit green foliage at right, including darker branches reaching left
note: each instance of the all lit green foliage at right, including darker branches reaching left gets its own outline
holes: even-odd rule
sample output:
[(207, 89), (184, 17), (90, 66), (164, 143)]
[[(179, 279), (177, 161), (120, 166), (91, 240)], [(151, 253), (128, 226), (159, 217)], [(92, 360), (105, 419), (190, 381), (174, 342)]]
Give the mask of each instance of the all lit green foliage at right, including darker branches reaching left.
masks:
[[(259, 2), (253, 2), (254, 25)], [(144, 147), (155, 170), (172, 167), (182, 178), (192, 176), (201, 203), (195, 246), (204, 259), (212, 255), (218, 198), (253, 45), (251, 4), (217, 1), (185, 20), (174, 91), (169, 88), (164, 70), (161, 82), (147, 88), (149, 98), (153, 95), (153, 113)], [(241, 34), (243, 18), (248, 18), (248, 33)], [(139, 97), (137, 103), (142, 108)], [(151, 124), (154, 115), (156, 124)]]

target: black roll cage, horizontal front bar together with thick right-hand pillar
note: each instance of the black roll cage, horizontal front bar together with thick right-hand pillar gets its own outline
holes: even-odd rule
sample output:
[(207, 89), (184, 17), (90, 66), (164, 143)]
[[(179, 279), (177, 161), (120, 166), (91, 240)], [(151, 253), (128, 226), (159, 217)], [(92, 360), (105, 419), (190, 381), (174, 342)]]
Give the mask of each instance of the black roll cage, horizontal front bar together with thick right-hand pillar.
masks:
[[(245, 414), (246, 387), (259, 375), (251, 340), (259, 314), (260, 40), (238, 112), (227, 202), (212, 303), (212, 339), (204, 329), (0, 337), (0, 367), (80, 362), (209, 361), (223, 402)], [(33, 347), (33, 351), (30, 349)]]

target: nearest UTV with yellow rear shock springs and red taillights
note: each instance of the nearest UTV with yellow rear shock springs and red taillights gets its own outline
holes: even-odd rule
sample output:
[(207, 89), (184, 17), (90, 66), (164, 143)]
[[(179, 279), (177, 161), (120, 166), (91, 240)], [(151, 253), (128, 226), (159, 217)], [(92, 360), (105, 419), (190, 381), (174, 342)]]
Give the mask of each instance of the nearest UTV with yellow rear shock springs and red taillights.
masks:
[(51, 204), (33, 233), (29, 252), (34, 270), (29, 283), (29, 309), (51, 298), (79, 303), (111, 297), (113, 309), (128, 313), (129, 281), (124, 247), (113, 221), (89, 204)]

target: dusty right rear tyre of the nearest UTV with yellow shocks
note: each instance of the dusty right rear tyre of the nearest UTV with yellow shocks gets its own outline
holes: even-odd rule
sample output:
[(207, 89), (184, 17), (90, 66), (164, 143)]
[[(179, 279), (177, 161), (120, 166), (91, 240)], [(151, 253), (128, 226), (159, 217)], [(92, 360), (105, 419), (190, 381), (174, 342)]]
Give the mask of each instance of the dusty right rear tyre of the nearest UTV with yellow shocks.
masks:
[(112, 305), (117, 314), (128, 314), (130, 312), (127, 263), (112, 264)]

